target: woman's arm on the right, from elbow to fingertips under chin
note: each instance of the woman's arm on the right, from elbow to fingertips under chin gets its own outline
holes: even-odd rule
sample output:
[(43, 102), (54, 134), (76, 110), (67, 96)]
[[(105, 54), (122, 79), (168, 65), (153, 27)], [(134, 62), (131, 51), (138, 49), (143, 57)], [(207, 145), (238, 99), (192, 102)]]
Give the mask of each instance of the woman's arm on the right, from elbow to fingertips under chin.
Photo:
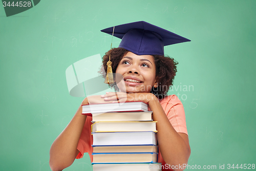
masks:
[(102, 95), (102, 98), (105, 101), (118, 99), (119, 102), (142, 101), (147, 103), (153, 111), (153, 120), (157, 121), (158, 145), (164, 161), (170, 166), (187, 164), (190, 156), (188, 136), (176, 132), (154, 94), (119, 92), (118, 95), (107, 93)]

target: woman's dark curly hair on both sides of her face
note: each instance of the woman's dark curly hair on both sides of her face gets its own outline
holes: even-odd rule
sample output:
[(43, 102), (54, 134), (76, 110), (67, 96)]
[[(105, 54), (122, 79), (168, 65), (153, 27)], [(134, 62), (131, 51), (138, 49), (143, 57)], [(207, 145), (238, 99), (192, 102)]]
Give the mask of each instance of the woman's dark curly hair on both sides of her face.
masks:
[[(106, 63), (109, 61), (109, 56), (111, 53), (111, 62), (112, 62), (112, 71), (113, 73), (116, 72), (116, 68), (121, 61), (122, 57), (129, 51), (125, 50), (124, 48), (117, 47), (112, 48), (110, 51), (106, 52), (102, 58), (103, 66), (100, 68), (99, 73), (105, 78), (107, 65)], [(161, 99), (164, 95), (167, 94), (169, 88), (173, 86), (174, 77), (176, 76), (177, 72), (177, 64), (178, 62), (175, 61), (173, 58), (168, 56), (162, 55), (152, 55), (155, 60), (156, 65), (156, 78), (158, 87), (152, 87), (151, 93), (155, 94), (159, 99)], [(116, 83), (110, 84), (111, 87), (115, 87), (118, 89)]]

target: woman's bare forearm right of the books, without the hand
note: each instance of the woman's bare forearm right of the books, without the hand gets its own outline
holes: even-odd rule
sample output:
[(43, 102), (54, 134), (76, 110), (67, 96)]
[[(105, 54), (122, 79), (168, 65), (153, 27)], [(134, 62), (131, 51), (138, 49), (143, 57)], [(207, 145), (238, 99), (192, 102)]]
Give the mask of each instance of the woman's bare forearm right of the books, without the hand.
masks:
[(170, 166), (187, 164), (190, 156), (188, 136), (176, 132), (156, 98), (152, 97), (148, 105), (153, 111), (153, 119), (157, 120), (158, 145), (164, 161)]

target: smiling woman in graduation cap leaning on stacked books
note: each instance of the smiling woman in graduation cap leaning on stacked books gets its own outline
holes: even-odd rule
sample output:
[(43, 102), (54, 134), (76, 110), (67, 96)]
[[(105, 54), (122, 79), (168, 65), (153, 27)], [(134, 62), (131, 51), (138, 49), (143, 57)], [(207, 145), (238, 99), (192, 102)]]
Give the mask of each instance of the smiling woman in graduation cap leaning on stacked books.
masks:
[[(112, 31), (113, 28), (102, 30), (108, 34)], [(144, 21), (116, 26), (114, 36), (122, 38), (122, 41), (118, 48), (104, 55), (104, 67), (100, 72), (102, 75), (106, 73), (106, 63), (111, 55), (113, 73), (121, 75), (124, 84), (110, 84), (119, 92), (86, 97), (81, 105), (131, 101), (147, 103), (153, 111), (153, 120), (157, 121), (158, 162), (162, 163), (162, 170), (185, 169), (190, 147), (183, 105), (176, 95), (166, 95), (173, 85), (178, 63), (164, 57), (163, 46), (190, 40)], [(83, 157), (86, 152), (92, 160), (92, 117), (81, 114), (81, 105), (51, 146), (52, 170), (70, 166), (75, 158)]]

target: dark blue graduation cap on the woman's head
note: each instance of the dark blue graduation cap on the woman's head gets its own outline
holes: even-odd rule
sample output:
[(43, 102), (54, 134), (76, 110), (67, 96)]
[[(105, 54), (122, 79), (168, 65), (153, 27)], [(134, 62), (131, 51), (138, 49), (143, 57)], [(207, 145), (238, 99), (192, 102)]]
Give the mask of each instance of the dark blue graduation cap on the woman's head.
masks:
[[(110, 27), (101, 32), (112, 35), (113, 29)], [(119, 47), (136, 55), (164, 55), (163, 46), (190, 41), (145, 21), (115, 26), (114, 36), (122, 39)]]

